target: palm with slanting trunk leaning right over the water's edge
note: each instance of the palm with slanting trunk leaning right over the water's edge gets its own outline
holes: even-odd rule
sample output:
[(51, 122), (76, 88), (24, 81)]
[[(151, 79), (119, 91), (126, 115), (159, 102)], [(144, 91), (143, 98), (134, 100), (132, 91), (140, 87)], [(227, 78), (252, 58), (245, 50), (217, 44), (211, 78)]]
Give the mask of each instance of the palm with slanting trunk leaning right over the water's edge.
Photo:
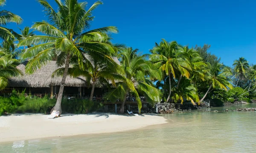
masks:
[(221, 88), (227, 91), (227, 88), (233, 88), (233, 85), (230, 83), (230, 76), (232, 75), (229, 68), (220, 63), (215, 63), (214, 65), (208, 64), (209, 71), (206, 74), (206, 80), (209, 83), (209, 88), (202, 99), (199, 102), (202, 102), (207, 96), (211, 88)]

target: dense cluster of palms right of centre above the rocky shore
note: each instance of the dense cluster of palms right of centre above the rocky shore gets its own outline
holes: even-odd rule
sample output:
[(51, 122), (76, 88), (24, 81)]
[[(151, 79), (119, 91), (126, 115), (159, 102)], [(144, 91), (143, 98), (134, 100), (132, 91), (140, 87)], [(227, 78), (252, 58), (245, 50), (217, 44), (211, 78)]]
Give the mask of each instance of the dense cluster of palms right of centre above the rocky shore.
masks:
[[(195, 105), (195, 102), (204, 100), (211, 88), (232, 88), (229, 79), (231, 71), (219, 62), (211, 65), (204, 61), (201, 54), (193, 48), (163, 39), (159, 44), (156, 43), (151, 53), (151, 61), (164, 74), (163, 81), (159, 80), (157, 86), (163, 93), (169, 93), (166, 102), (173, 100), (183, 103), (186, 99)], [(197, 88), (200, 88), (201, 82), (209, 88), (199, 100)]]

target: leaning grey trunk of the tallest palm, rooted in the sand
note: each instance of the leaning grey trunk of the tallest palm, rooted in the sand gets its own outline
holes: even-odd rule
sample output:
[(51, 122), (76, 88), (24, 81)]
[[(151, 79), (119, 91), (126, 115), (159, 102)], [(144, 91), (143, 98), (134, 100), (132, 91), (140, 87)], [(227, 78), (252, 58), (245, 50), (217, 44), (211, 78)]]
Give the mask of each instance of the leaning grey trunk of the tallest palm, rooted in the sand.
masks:
[[(63, 76), (62, 76), (62, 79), (61, 79), (61, 87), (60, 87), (60, 90), (59, 90), (59, 93), (58, 93), (58, 99), (57, 99), (57, 102), (56, 102), (55, 106), (52, 108), (52, 111), (60, 111), (60, 114), (62, 113), (61, 100), (62, 100), (64, 86), (65, 86), (65, 82), (66, 82), (66, 78), (67, 78), (67, 71), (68, 71), (68, 68), (69, 68), (69, 62), (70, 62), (70, 54), (67, 54), (64, 73), (63, 73)], [(52, 113), (52, 111), (51, 111), (51, 113)]]

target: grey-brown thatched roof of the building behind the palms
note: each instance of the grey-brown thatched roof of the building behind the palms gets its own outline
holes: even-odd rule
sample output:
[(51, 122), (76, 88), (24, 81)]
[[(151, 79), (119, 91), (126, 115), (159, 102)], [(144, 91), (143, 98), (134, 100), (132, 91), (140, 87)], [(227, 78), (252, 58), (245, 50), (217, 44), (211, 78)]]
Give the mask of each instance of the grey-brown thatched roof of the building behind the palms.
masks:
[[(17, 68), (23, 72), (21, 77), (13, 77), (9, 79), (9, 87), (50, 87), (51, 85), (61, 85), (61, 77), (52, 78), (52, 73), (59, 67), (56, 65), (56, 61), (50, 61), (47, 65), (38, 69), (34, 74), (25, 74), (25, 66), (27, 62), (23, 62), (18, 65)], [(72, 78), (67, 76), (66, 85), (71, 87), (86, 87), (87, 83), (85, 78), (77, 77)]]

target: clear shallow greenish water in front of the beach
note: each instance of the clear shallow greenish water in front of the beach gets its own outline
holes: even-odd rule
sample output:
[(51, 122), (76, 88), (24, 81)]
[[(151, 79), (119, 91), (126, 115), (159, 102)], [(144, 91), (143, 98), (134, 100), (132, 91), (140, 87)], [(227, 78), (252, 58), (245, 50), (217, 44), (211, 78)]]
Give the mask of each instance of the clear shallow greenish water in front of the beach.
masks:
[[(256, 104), (218, 109), (239, 107)], [(150, 129), (3, 143), (0, 153), (256, 153), (254, 111), (177, 113), (164, 117), (168, 124)]]

